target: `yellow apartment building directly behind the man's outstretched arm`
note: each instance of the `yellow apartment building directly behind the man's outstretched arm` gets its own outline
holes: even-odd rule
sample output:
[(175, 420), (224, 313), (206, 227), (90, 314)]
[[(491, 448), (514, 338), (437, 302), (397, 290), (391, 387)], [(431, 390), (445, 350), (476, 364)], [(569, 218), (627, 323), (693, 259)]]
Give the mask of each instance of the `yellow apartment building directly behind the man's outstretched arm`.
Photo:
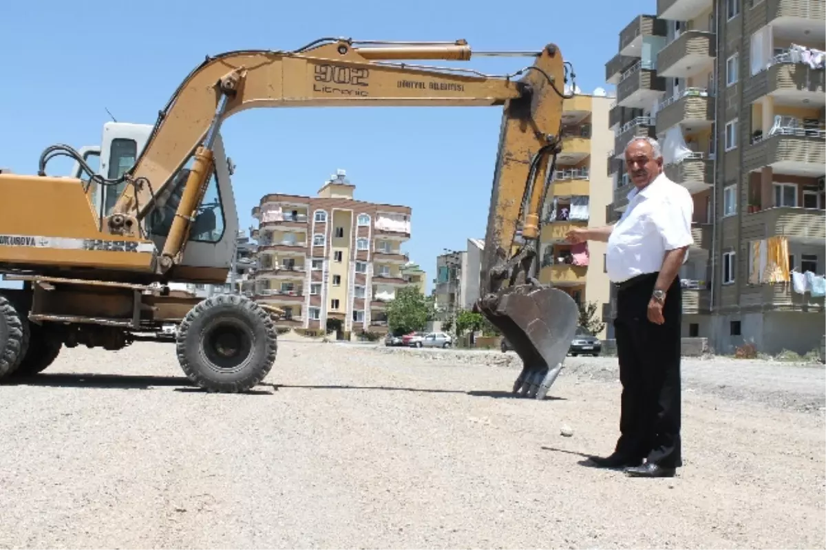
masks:
[[(539, 281), (570, 294), (577, 303), (609, 301), (605, 243), (572, 245), (566, 235), (576, 226), (600, 226), (612, 202), (609, 154), (610, 104), (604, 90), (577, 93), (563, 103), (563, 150), (544, 205)], [(599, 315), (599, 314), (597, 314)], [(599, 334), (605, 337), (605, 331)]]

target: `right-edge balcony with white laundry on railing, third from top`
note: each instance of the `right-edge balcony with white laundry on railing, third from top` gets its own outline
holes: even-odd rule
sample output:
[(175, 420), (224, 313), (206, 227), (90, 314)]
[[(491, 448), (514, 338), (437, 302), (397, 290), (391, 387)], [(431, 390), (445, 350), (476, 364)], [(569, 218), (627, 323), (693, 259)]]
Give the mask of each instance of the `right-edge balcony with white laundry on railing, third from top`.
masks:
[(748, 172), (771, 166), (776, 173), (819, 178), (826, 174), (826, 129), (806, 127), (802, 121), (776, 116), (766, 137), (747, 145), (743, 169)]

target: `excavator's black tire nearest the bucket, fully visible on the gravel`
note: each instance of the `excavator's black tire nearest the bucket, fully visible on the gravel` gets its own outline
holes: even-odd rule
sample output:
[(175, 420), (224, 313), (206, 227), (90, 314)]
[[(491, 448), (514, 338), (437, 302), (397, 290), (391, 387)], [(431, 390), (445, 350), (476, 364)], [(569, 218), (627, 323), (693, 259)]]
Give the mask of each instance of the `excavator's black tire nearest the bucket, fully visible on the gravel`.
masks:
[[(213, 331), (224, 334), (213, 337)], [(231, 334), (230, 333), (235, 333)], [(217, 340), (235, 339), (240, 354), (222, 367)], [(248, 391), (273, 368), (278, 352), (278, 334), (272, 317), (246, 296), (211, 296), (189, 311), (178, 327), (178, 362), (184, 374), (207, 391)], [(243, 355), (243, 357), (240, 357)]]

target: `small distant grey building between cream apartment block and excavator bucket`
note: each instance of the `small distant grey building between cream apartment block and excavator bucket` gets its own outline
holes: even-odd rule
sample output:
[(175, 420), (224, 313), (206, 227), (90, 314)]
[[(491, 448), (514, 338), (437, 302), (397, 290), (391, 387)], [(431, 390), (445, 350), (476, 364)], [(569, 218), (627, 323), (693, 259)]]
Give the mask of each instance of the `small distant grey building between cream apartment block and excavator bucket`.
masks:
[(466, 250), (449, 250), (436, 257), (435, 307), (439, 320), (455, 318), (479, 299), (483, 239), (468, 239)]

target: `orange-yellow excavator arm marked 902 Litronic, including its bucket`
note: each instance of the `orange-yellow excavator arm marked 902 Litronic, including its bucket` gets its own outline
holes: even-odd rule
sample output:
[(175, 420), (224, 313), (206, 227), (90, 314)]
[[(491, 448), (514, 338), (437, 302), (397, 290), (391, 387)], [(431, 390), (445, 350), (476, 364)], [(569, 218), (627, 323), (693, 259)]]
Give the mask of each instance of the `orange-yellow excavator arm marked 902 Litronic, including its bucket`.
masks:
[[(505, 76), (436, 68), (410, 60), (467, 61), (525, 55), (532, 65)], [(515, 79), (520, 77), (519, 79)], [(537, 52), (472, 52), (454, 43), (316, 40), (299, 50), (242, 50), (208, 57), (174, 92), (150, 140), (122, 178), (129, 185), (102, 230), (141, 237), (170, 188), (183, 185), (159, 261), (181, 261), (211, 174), (211, 145), (221, 122), (254, 107), (491, 107), (503, 111), (482, 258), (482, 298), (475, 309), (501, 330), (525, 369), (520, 395), (543, 398), (559, 372), (577, 325), (570, 296), (534, 277), (540, 212), (561, 149), (566, 64), (555, 45)], [(188, 173), (183, 168), (192, 162)], [(110, 182), (111, 183), (111, 182)]]

